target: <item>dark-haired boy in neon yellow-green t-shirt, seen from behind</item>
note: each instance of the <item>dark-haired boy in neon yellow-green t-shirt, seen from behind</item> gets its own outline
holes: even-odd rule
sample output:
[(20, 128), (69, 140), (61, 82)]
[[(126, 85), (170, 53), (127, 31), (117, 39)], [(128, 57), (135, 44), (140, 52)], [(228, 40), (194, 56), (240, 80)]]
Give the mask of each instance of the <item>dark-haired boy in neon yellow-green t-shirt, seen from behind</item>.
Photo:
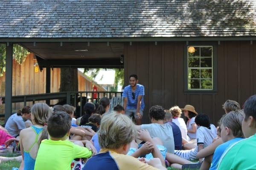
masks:
[(58, 111), (48, 120), (50, 139), (41, 142), (35, 160), (35, 170), (70, 170), (76, 158), (89, 158), (92, 151), (67, 140), (70, 134), (70, 116)]

